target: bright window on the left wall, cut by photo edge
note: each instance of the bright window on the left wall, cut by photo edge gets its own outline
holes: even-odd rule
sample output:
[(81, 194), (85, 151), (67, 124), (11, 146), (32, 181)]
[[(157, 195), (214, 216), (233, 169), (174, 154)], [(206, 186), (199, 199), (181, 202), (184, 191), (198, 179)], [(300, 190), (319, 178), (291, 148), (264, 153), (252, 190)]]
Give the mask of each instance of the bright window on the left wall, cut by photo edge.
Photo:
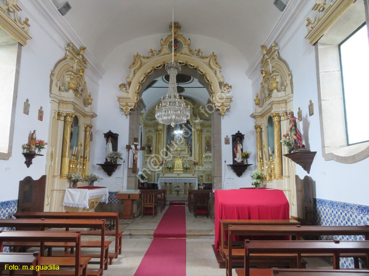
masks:
[[(8, 159), (12, 145), (14, 125), (12, 109), (15, 107), (14, 83), (18, 55), (18, 42), (0, 28), (0, 159)], [(14, 113), (14, 112), (13, 112)], [(5, 154), (5, 155), (3, 155)]]

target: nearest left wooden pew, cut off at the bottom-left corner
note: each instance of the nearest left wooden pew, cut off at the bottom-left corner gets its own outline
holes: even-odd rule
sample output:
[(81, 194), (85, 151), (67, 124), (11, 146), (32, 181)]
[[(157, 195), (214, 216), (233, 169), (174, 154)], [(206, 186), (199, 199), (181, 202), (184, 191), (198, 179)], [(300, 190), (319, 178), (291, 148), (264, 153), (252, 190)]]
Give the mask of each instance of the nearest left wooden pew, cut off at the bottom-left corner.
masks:
[[(19, 266), (20, 268), (24, 268), (23, 266), (33, 267), (39, 265), (40, 252), (33, 253), (0, 253), (0, 275), (4, 275), (4, 270), (6, 270), (6, 265), (8, 266)], [(14, 276), (16, 271), (20, 268), (12, 268), (8, 269), (8, 273), (10, 276)], [(32, 272), (32, 276), (40, 276), (40, 270), (34, 269)]]

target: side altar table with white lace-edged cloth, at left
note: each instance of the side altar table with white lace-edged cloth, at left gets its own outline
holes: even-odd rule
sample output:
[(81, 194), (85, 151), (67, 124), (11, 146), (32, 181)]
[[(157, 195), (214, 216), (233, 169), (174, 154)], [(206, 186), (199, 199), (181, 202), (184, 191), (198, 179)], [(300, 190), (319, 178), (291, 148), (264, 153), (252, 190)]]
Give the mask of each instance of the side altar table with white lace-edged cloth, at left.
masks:
[(63, 206), (66, 211), (93, 212), (99, 202), (109, 202), (108, 188), (83, 186), (65, 189)]

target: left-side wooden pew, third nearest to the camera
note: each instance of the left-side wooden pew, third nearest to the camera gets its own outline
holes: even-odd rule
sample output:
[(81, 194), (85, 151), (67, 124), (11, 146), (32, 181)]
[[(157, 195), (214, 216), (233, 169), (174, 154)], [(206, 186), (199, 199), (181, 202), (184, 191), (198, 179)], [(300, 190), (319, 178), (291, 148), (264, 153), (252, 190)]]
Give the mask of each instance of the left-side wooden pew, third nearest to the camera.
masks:
[[(100, 254), (84, 254), (86, 257), (99, 258), (99, 274), (102, 275), (102, 270), (108, 269), (108, 252), (110, 241), (105, 241), (105, 220), (45, 220), (45, 219), (2, 219), (0, 220), (0, 227), (16, 227), (17, 228), (35, 228), (35, 230), (44, 231), (45, 228), (95, 228), (100, 229), (99, 241), (82, 241), (82, 248), (100, 248)], [(4, 246), (39, 246), (39, 243), (31, 241), (31, 243), (22, 244), (22, 242), (5, 242)], [(45, 244), (47, 248), (66, 247), (73, 248), (71, 243), (49, 242)], [(51, 255), (49, 253), (48, 255)]]

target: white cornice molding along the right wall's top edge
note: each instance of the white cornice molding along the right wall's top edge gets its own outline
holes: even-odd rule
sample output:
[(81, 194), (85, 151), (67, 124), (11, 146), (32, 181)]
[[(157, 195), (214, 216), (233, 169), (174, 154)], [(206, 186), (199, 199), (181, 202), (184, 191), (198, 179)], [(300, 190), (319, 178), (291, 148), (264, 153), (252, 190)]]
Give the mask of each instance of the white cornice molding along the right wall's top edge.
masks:
[[(306, 19), (311, 13), (311, 8), (314, 3), (315, 0), (289, 1), (282, 16), (277, 21), (276, 26), (268, 35), (263, 45), (269, 48), (271, 44), (275, 42), (279, 51), (282, 51), (298, 29), (306, 23)], [(261, 78), (260, 59), (262, 56), (263, 54), (259, 48), (250, 66), (246, 70), (246, 76), (252, 83)]]

